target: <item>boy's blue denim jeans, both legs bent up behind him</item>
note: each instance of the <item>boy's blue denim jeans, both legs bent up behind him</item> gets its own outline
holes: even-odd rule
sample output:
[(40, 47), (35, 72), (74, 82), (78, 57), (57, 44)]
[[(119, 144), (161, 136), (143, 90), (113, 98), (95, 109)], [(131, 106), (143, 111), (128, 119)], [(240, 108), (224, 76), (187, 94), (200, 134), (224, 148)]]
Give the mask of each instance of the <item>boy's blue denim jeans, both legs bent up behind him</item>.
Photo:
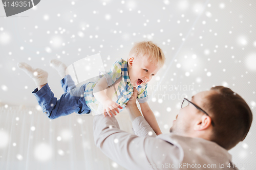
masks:
[(88, 83), (76, 87), (70, 75), (65, 76), (60, 83), (65, 93), (60, 96), (59, 100), (54, 97), (48, 83), (40, 90), (36, 88), (32, 92), (38, 104), (41, 106), (42, 111), (50, 119), (66, 116), (74, 112), (78, 114), (91, 112), (83, 95)]

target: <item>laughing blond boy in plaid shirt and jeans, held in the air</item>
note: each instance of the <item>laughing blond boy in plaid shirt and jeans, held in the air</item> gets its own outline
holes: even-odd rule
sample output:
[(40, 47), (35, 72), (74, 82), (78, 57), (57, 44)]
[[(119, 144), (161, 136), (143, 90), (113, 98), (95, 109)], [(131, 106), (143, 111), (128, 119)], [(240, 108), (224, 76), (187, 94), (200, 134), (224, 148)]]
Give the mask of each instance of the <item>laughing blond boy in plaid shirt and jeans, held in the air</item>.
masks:
[[(119, 109), (123, 109), (133, 94), (133, 88), (138, 90), (138, 102), (146, 121), (157, 135), (161, 130), (157, 124), (154, 113), (147, 104), (147, 83), (157, 74), (165, 61), (164, 54), (152, 41), (136, 43), (129, 53), (127, 61), (120, 59), (116, 61), (110, 71), (101, 76), (95, 82), (89, 82), (75, 87), (70, 75), (66, 76), (67, 66), (58, 60), (50, 63), (58, 70), (62, 78), (61, 86), (65, 91), (60, 99), (54, 97), (48, 85), (48, 73), (40, 68), (32, 68), (30, 65), (19, 62), (23, 69), (35, 81), (37, 88), (32, 92), (41, 106), (42, 111), (51, 118), (69, 115), (73, 112), (78, 114), (99, 112), (116, 115)], [(69, 84), (69, 87), (68, 87)], [(72, 85), (73, 84), (73, 85)], [(71, 86), (72, 85), (72, 86)], [(71, 89), (72, 88), (72, 89)]]

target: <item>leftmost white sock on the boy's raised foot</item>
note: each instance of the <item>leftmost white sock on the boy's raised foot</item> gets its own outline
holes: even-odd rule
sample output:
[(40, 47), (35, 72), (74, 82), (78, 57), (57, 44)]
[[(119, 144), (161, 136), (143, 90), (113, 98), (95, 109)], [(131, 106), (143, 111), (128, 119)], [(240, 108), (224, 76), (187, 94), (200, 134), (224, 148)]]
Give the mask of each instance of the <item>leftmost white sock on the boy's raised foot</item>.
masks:
[(36, 86), (44, 85), (48, 82), (48, 72), (40, 68), (32, 68), (25, 62), (18, 62), (17, 66), (25, 71), (34, 81)]

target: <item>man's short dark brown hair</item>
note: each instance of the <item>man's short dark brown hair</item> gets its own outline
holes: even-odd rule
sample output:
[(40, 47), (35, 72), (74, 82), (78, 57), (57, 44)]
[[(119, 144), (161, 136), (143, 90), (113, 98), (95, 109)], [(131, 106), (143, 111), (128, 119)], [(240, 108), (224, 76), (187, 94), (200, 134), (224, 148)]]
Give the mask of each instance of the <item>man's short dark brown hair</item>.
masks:
[(215, 123), (211, 141), (230, 150), (246, 137), (252, 122), (252, 112), (244, 99), (230, 88), (212, 87), (204, 108)]

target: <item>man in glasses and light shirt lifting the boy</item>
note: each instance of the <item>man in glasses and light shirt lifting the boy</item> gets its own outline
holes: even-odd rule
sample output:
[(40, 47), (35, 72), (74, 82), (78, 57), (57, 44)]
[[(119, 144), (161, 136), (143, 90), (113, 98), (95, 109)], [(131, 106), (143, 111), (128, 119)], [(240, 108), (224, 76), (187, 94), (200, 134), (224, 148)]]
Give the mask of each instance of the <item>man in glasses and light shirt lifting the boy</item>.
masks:
[(119, 129), (114, 116), (95, 116), (94, 139), (101, 151), (127, 169), (237, 169), (228, 150), (246, 137), (249, 106), (231, 89), (216, 86), (184, 99), (169, 134), (156, 135), (136, 105), (127, 103), (134, 134)]

